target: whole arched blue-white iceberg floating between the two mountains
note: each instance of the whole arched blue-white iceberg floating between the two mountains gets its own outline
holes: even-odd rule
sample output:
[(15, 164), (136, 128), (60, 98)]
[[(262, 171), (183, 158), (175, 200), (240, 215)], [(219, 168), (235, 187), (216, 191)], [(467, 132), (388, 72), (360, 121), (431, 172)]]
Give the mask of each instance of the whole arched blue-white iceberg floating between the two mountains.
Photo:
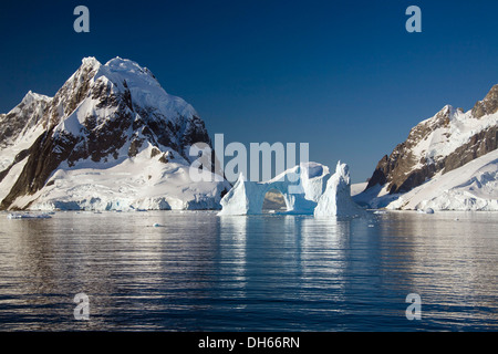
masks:
[(264, 196), (278, 190), (291, 215), (356, 216), (363, 212), (351, 199), (349, 167), (338, 164), (334, 175), (318, 163), (301, 163), (269, 181), (249, 181), (242, 174), (221, 199), (219, 216), (260, 215)]

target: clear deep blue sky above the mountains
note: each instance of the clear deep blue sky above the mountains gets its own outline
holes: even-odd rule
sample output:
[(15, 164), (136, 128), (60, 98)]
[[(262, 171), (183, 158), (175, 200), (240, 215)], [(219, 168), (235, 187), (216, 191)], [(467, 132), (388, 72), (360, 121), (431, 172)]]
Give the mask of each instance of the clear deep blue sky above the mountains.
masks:
[[(310, 143), (353, 181), (445, 104), (498, 83), (498, 1), (10, 1), (0, 4), (0, 112), (53, 95), (83, 56), (153, 71), (226, 143)], [(73, 9), (90, 9), (90, 33)], [(407, 33), (405, 10), (422, 9)]]

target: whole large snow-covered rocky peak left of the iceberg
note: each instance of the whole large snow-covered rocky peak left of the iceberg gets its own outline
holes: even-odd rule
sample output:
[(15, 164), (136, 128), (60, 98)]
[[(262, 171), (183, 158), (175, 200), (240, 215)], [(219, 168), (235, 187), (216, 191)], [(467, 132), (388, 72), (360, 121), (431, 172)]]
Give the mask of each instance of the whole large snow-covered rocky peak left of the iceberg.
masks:
[(1, 208), (219, 208), (230, 186), (190, 180), (195, 143), (204, 122), (149, 70), (85, 58), (54, 97), (0, 115)]

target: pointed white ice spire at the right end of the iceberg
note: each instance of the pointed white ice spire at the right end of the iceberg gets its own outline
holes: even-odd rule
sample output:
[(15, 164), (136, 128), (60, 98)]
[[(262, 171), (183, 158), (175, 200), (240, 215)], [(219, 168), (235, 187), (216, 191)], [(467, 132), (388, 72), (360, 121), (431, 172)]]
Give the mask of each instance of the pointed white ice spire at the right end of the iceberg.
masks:
[(338, 163), (335, 174), (326, 183), (326, 188), (320, 197), (315, 217), (351, 217), (365, 211), (351, 198), (350, 168), (346, 164)]

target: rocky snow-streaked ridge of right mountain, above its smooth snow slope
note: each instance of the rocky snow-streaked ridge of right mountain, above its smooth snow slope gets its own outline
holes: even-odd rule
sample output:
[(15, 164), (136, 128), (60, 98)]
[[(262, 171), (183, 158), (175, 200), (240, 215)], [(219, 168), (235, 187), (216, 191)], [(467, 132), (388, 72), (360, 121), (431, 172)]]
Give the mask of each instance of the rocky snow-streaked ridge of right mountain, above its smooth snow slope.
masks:
[[(384, 207), (413, 188), (422, 186), (417, 190), (423, 189), (432, 178), (459, 168), (465, 170), (463, 166), (496, 150), (497, 140), (498, 85), (495, 85), (473, 110), (464, 112), (446, 105), (413, 127), (407, 139), (378, 162), (365, 191), (354, 199), (371, 207)], [(412, 204), (396, 206), (414, 207)]]

